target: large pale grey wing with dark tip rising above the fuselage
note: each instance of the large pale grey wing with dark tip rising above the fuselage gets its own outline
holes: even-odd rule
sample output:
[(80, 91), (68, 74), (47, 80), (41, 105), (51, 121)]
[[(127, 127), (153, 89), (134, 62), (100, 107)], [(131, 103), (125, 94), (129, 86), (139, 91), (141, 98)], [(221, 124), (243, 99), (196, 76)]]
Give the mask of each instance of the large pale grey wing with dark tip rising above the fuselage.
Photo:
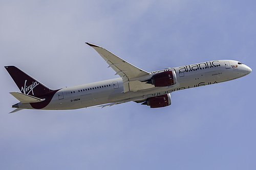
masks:
[(148, 77), (150, 79), (150, 73), (144, 71), (133, 64), (121, 59), (105, 48), (86, 42), (88, 45), (94, 48), (96, 52), (109, 64), (109, 67), (116, 71), (115, 75), (119, 75), (123, 80), (124, 92), (138, 91), (148, 88), (153, 88), (154, 85), (141, 82), (141, 77)]

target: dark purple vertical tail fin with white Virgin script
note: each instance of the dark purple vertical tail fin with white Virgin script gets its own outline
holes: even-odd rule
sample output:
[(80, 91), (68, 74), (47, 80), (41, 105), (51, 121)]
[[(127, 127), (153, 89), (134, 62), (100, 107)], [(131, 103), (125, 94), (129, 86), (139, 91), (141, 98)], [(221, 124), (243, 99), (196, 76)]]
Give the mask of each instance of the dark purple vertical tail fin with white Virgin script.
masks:
[(24, 94), (40, 96), (53, 91), (15, 66), (5, 66), (5, 68), (18, 86), (19, 90)]

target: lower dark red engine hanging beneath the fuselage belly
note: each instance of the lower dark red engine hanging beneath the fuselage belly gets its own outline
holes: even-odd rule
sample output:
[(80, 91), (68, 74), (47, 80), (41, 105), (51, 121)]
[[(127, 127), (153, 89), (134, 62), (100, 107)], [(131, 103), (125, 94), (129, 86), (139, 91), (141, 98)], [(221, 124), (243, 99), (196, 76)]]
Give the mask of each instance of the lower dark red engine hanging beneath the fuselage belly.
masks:
[(150, 108), (165, 107), (169, 106), (170, 104), (170, 93), (148, 98), (146, 99), (146, 102), (142, 103), (142, 105), (150, 106)]

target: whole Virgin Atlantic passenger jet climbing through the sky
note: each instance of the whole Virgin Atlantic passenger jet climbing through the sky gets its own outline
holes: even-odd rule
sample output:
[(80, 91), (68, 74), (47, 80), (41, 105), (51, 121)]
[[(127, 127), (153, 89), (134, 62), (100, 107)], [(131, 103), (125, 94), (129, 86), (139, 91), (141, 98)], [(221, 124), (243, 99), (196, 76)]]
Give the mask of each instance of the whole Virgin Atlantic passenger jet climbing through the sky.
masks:
[(151, 108), (171, 104), (170, 93), (216, 84), (250, 74), (251, 68), (234, 60), (214, 60), (147, 72), (105, 48), (86, 42), (120, 78), (73, 87), (51, 89), (15, 66), (5, 66), (20, 92), (10, 92), (21, 109), (68, 110), (106, 107), (134, 101)]

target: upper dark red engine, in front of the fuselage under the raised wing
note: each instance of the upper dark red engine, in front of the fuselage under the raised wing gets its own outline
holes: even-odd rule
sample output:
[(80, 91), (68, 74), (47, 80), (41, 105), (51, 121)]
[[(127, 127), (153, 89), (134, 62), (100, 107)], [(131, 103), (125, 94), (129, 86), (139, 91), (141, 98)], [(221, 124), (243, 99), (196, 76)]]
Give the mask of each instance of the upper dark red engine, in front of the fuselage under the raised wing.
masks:
[(147, 83), (155, 85), (155, 87), (172, 86), (176, 84), (175, 71), (164, 71), (152, 76)]

